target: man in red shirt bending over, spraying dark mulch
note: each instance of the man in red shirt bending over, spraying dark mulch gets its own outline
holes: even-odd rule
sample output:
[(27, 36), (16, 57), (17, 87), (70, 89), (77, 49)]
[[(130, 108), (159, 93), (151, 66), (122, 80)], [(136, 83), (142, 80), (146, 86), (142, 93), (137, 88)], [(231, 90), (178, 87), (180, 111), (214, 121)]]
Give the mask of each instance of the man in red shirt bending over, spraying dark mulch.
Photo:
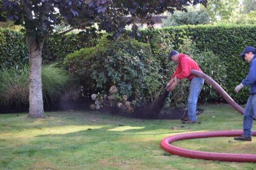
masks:
[(176, 71), (174, 72), (172, 79), (167, 83), (166, 90), (172, 91), (181, 79), (187, 78), (190, 81), (189, 95), (187, 102), (188, 120), (182, 122), (183, 124), (195, 124), (197, 123), (197, 101), (204, 84), (204, 79), (190, 75), (190, 70), (195, 69), (203, 72), (198, 63), (191, 59), (189, 56), (172, 51), (169, 54), (169, 59), (178, 62)]

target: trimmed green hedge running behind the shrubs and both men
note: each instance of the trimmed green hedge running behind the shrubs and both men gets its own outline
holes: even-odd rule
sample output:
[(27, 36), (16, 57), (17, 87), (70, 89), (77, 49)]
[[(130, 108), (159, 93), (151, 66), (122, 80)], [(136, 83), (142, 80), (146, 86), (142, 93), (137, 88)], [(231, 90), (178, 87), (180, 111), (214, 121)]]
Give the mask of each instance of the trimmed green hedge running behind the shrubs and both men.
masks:
[[(198, 55), (195, 54), (213, 53), (221, 60), (220, 67), (223, 66), (226, 69), (227, 75), (225, 80), (223, 80), (225, 83), (222, 87), (237, 102), (246, 102), (248, 98), (248, 88), (244, 88), (238, 94), (235, 94), (233, 89), (247, 75), (249, 68), (248, 63), (243, 62), (238, 56), (245, 46), (256, 46), (256, 25), (179, 26), (155, 30), (140, 30), (140, 33), (141, 36), (137, 38), (137, 40), (150, 44), (153, 56), (161, 60), (160, 64), (163, 68), (162, 71), (164, 71), (164, 69), (169, 69), (169, 65), (164, 63), (164, 56), (167, 56), (169, 49), (180, 49), (180, 47), (184, 44), (184, 41), (187, 39), (191, 39), (193, 42), (195, 42), (194, 49), (189, 52), (190, 55), (194, 55), (193, 57), (195, 60), (198, 60), (195, 58)], [(70, 34), (61, 37), (49, 38), (46, 40), (46, 44), (42, 52), (44, 61), (62, 61), (67, 54), (79, 50), (85, 46), (91, 47), (96, 44), (96, 39), (84, 39), (84, 37), (90, 36)], [(161, 46), (159, 47), (159, 44), (162, 45), (162, 42), (156, 43), (156, 40), (159, 40), (159, 37), (162, 38), (161, 41), (163, 41), (168, 48), (163, 49), (160, 48)], [(83, 42), (83, 40), (87, 41)], [(183, 52), (186, 52), (186, 50), (184, 49)], [(23, 34), (0, 29), (1, 63), (4, 65), (13, 65), (19, 62), (26, 62), (27, 60), (28, 51)], [(212, 60), (209, 61), (212, 62)], [(205, 72), (207, 73), (207, 71)], [(216, 71), (216, 74), (213, 77), (217, 79), (219, 83), (221, 83), (218, 75), (222, 75), (222, 72)], [(166, 76), (168, 77), (170, 75)], [(204, 94), (201, 95), (203, 101), (220, 101), (219, 96), (208, 93), (207, 90), (203, 93)], [(207, 96), (207, 93), (212, 95)]]

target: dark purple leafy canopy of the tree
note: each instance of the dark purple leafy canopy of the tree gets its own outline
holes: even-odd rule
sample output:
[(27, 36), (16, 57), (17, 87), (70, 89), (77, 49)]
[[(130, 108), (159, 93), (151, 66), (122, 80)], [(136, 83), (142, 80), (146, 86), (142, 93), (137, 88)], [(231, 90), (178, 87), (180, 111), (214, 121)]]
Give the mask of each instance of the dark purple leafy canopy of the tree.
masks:
[[(0, 4), (0, 20), (14, 20), (24, 25), (27, 34), (45, 36), (55, 25), (65, 23), (73, 28), (84, 29), (98, 23), (99, 30), (123, 32), (125, 25), (133, 23), (133, 17), (152, 23), (152, 15), (164, 11), (183, 11), (188, 5), (206, 0), (182, 1), (111, 1), (111, 0), (3, 0)], [(131, 15), (130, 20), (122, 16)]]

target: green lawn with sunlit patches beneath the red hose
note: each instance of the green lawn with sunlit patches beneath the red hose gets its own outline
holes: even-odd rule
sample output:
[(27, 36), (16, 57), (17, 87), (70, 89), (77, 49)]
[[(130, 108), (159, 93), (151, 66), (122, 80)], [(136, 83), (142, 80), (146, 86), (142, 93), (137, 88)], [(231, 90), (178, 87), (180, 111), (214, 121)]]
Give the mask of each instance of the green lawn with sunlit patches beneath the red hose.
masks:
[[(160, 148), (160, 141), (174, 134), (242, 130), (242, 115), (229, 105), (202, 108), (205, 111), (198, 116), (202, 124), (184, 128), (180, 120), (143, 120), (97, 112), (46, 112), (47, 118), (41, 119), (29, 118), (27, 113), (0, 114), (0, 169), (254, 169), (255, 163), (190, 159)], [(174, 145), (256, 154), (256, 137), (251, 142), (216, 137)]]

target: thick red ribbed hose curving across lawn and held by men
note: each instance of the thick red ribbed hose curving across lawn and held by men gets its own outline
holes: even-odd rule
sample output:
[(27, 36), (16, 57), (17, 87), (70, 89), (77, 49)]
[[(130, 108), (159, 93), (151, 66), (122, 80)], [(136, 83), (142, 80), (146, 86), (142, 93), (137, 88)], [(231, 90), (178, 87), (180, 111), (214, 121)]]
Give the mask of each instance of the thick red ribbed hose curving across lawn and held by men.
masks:
[[(226, 100), (228, 104), (230, 104), (239, 113), (244, 114), (244, 109), (241, 106), (239, 106), (236, 102), (234, 102), (233, 99), (226, 93), (226, 91), (223, 90), (223, 88), (214, 80), (212, 80), (209, 76), (197, 70), (191, 70), (190, 74), (203, 78), (207, 83), (212, 85), (223, 96), (223, 98)], [(193, 150), (175, 147), (174, 145), (170, 144), (174, 141), (183, 140), (183, 139), (220, 137), (220, 136), (240, 136), (242, 134), (243, 134), (243, 131), (211, 131), (211, 132), (179, 134), (179, 135), (174, 135), (174, 136), (169, 136), (164, 138), (161, 141), (161, 147), (163, 150), (171, 154), (180, 155), (180, 156), (189, 157), (189, 158), (232, 161), (232, 162), (256, 162), (256, 155), (193, 151)], [(252, 132), (252, 136), (256, 136), (256, 131)]]

